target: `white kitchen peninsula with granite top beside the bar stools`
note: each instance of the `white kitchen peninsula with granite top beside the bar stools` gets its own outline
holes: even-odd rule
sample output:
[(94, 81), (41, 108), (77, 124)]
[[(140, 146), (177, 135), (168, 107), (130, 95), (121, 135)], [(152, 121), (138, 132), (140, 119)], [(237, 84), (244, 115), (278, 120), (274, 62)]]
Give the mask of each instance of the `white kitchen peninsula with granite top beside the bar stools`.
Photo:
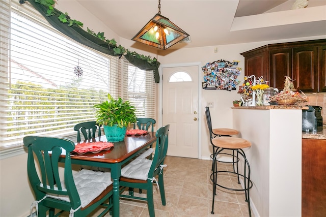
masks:
[(233, 128), (252, 143), (250, 198), (256, 216), (301, 216), (302, 107), (232, 107)]

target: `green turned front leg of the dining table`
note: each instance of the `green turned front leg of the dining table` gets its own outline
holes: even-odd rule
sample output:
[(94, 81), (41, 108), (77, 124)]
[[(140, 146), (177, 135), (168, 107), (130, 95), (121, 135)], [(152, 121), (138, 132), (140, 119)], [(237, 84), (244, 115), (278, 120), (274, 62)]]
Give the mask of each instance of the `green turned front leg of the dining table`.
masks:
[(111, 178), (113, 179), (113, 217), (119, 217), (119, 179), (121, 175), (121, 166), (118, 164), (113, 164), (111, 168)]

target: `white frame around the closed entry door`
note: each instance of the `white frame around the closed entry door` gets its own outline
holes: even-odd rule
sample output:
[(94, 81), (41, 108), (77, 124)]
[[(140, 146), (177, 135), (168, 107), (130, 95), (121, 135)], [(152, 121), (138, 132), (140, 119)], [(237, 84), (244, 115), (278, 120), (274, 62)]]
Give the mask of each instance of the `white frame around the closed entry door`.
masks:
[[(158, 68), (159, 78), (162, 81), (162, 74), (164, 68), (171, 68), (171, 67), (188, 67), (188, 66), (197, 66), (198, 67), (198, 159), (202, 159), (202, 63), (201, 62), (194, 62), (194, 63), (180, 63), (180, 64), (163, 64), (160, 65)], [(158, 94), (158, 120), (162, 123), (162, 100), (163, 100), (163, 82), (159, 82), (159, 94)]]

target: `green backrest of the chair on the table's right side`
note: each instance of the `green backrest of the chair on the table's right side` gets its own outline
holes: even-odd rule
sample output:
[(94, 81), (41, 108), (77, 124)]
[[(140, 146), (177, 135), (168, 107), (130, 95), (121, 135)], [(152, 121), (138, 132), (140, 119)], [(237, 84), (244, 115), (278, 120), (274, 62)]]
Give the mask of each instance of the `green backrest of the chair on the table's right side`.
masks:
[(164, 159), (167, 155), (169, 139), (170, 125), (166, 125), (161, 127), (156, 131), (156, 146), (155, 146), (155, 153), (151, 168), (148, 173), (148, 177), (153, 177), (155, 170), (159, 168), (159, 165), (164, 163)]

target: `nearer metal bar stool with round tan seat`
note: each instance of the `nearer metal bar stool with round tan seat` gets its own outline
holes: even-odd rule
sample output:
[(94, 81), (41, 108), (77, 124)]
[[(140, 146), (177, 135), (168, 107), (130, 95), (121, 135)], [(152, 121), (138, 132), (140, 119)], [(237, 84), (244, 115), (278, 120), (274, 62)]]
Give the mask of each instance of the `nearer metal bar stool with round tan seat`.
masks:
[[(217, 138), (213, 138), (211, 142), (216, 147), (216, 152), (213, 157), (213, 170), (212, 170), (212, 174), (210, 175), (210, 179), (213, 182), (213, 202), (212, 202), (211, 213), (214, 214), (214, 199), (216, 195), (216, 186), (219, 186), (221, 188), (231, 190), (231, 191), (244, 191), (246, 202), (248, 202), (249, 216), (251, 216), (249, 190), (253, 187), (253, 183), (250, 180), (250, 165), (246, 158), (246, 154), (244, 154), (244, 151), (242, 150), (242, 148), (251, 147), (251, 142), (249, 142), (246, 139), (235, 138), (235, 137), (217, 137)], [(225, 149), (236, 151), (237, 159), (239, 159), (239, 157), (242, 156), (244, 160), (244, 170), (242, 174), (240, 174), (238, 170), (238, 161), (236, 161), (236, 171), (234, 171), (234, 167), (233, 167), (233, 171), (218, 171), (218, 156), (221, 153), (221, 151)], [(242, 177), (244, 187), (243, 188), (241, 187), (240, 189), (233, 189), (219, 184), (218, 173), (236, 174), (239, 184), (240, 184), (240, 177)]]

